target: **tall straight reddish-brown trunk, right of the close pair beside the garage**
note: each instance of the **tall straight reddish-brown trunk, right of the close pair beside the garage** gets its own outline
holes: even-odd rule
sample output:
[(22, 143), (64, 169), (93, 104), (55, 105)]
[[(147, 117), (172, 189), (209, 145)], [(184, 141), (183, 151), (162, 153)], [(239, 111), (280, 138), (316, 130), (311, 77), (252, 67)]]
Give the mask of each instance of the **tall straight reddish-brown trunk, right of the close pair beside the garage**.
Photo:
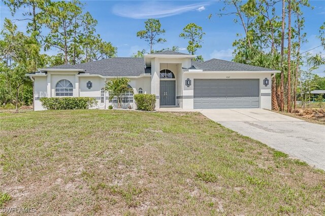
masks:
[(291, 0), (288, 0), (288, 96), (287, 112), (291, 112)]

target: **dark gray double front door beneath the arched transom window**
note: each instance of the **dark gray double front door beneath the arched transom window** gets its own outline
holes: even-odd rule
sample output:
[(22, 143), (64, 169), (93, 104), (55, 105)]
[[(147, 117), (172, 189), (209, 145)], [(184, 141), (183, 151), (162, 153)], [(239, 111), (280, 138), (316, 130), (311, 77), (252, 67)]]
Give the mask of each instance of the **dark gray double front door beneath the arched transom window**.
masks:
[(175, 106), (175, 80), (160, 81), (160, 106)]

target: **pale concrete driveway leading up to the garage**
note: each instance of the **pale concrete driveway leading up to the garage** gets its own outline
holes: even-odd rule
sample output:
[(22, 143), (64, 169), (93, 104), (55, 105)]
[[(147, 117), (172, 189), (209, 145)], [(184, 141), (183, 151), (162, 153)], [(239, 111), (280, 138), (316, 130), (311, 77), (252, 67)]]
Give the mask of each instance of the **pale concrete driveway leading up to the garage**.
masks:
[(200, 112), (233, 131), (325, 170), (325, 125), (264, 109), (203, 109)]

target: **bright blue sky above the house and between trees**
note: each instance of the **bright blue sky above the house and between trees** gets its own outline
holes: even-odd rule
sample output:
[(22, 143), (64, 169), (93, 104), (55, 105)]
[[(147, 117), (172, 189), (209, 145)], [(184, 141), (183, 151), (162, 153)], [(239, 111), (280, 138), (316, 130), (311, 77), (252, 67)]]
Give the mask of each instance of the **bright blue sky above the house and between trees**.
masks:
[[(234, 16), (218, 17), (215, 14), (224, 7), (222, 1), (82, 1), (85, 3), (85, 11), (98, 20), (97, 32), (102, 38), (111, 41), (118, 48), (119, 57), (131, 56), (137, 50), (149, 50), (145, 41), (136, 36), (137, 31), (144, 28), (144, 21), (148, 18), (158, 18), (162, 28), (166, 30), (164, 37), (167, 42), (155, 45), (154, 49), (162, 49), (178, 46), (180, 52), (187, 52), (187, 41), (178, 35), (183, 27), (194, 22), (203, 27), (206, 35), (202, 49), (198, 55), (205, 60), (218, 58), (224, 60), (232, 59), (232, 43), (236, 39), (236, 33), (243, 33), (242, 26), (234, 23)], [(304, 8), (305, 32), (307, 40), (302, 46), (302, 52), (320, 45), (316, 37), (322, 22), (325, 20), (325, 1), (311, 1), (310, 8)], [(281, 7), (278, 4), (277, 7)], [(23, 9), (27, 10), (27, 9)], [(281, 8), (277, 8), (281, 13)], [(17, 12), (14, 18), (21, 17), (22, 10)], [(14, 19), (8, 8), (1, 2), (0, 5), (1, 26), (5, 17)], [(208, 19), (213, 14), (212, 19)], [(19, 29), (24, 30), (26, 23), (17, 21)], [(312, 54), (325, 53), (322, 47), (310, 51)], [(56, 54), (55, 50), (49, 54)], [(325, 76), (322, 71), (325, 67), (318, 69), (319, 75)]]

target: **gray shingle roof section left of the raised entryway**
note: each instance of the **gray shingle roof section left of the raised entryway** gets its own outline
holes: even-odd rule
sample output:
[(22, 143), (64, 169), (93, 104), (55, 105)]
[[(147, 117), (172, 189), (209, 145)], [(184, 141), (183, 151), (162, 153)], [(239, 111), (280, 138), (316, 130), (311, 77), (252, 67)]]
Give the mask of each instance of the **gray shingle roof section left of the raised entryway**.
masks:
[(139, 76), (145, 72), (143, 58), (116, 57), (76, 65), (59, 65), (50, 69), (84, 69), (102, 76)]

